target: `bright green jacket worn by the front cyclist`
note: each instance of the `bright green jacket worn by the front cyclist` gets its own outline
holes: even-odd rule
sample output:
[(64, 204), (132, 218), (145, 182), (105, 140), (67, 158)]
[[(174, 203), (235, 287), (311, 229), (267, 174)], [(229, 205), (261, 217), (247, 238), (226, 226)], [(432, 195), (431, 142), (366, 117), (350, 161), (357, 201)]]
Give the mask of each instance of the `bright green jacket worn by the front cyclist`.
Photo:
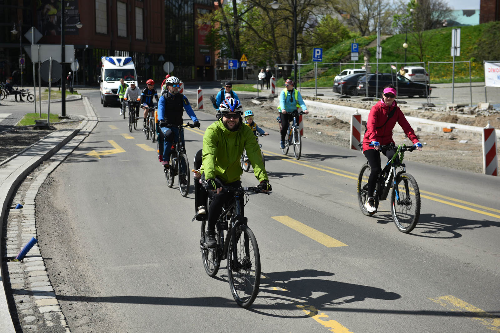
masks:
[(205, 179), (218, 177), (224, 183), (239, 180), (243, 170), (240, 158), (243, 149), (250, 160), (253, 173), (258, 181), (268, 180), (260, 148), (255, 135), (239, 118), (239, 128), (231, 132), (225, 128), (222, 118), (208, 126), (203, 135), (203, 156), (201, 172)]

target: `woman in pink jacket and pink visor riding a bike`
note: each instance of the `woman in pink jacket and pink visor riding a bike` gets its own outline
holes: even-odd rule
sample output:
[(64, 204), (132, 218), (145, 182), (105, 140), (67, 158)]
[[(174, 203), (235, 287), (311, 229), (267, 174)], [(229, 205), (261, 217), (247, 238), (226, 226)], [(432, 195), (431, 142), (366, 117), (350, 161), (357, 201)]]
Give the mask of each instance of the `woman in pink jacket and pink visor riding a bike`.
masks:
[[(422, 150), (422, 144), (418, 142), (415, 132), (409, 125), (406, 118), (404, 118), (401, 109), (395, 102), (396, 89), (393, 85), (389, 84), (384, 87), (382, 99), (375, 104), (368, 114), (368, 121), (366, 122), (366, 132), (363, 137), (363, 154), (368, 160), (371, 168), (371, 173), (368, 177), (368, 200), (364, 204), (364, 208), (369, 211), (375, 211), (373, 200), (373, 191), (375, 190), (375, 182), (378, 174), (382, 170), (380, 167), (380, 145), (394, 144), (392, 140), (392, 129), (396, 122), (401, 126), (404, 133), (413, 146), (417, 150)], [(394, 149), (382, 149), (381, 152), (390, 160), (395, 153)]]

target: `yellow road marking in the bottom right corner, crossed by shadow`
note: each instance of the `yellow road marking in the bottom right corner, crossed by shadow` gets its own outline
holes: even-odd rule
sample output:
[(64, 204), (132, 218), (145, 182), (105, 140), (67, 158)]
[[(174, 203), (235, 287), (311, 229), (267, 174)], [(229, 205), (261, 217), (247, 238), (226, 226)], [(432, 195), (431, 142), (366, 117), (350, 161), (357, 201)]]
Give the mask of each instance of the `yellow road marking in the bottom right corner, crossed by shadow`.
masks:
[(493, 332), (500, 332), (500, 318), (495, 317), (487, 312), (474, 307), (462, 300), (452, 296), (441, 296), (437, 298), (429, 298), (432, 302), (453, 312), (470, 312), (474, 316), (467, 316), (471, 321), (484, 325), (484, 327)]

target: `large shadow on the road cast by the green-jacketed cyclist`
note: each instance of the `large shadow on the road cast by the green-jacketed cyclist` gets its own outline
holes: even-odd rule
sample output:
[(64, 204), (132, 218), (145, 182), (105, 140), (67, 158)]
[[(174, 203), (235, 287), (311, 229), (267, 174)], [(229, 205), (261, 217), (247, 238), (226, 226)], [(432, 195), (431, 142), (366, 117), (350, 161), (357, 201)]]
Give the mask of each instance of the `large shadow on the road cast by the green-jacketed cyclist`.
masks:
[(259, 295), (250, 311), (278, 318), (306, 318), (331, 306), (367, 298), (396, 300), (401, 297), (380, 288), (318, 279), (332, 275), (334, 273), (312, 269), (262, 273)]

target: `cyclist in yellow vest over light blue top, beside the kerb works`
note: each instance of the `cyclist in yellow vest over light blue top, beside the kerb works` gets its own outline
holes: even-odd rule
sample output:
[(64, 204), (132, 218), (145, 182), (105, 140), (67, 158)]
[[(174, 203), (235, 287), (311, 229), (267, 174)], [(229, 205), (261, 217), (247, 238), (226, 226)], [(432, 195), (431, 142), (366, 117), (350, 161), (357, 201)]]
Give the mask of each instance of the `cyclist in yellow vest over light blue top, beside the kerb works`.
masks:
[(281, 122), (281, 141), (279, 141), (279, 147), (284, 149), (284, 137), (288, 132), (288, 125), (293, 120), (293, 117), (297, 118), (296, 122), (298, 124), (298, 113), (297, 109), (301, 108), (305, 114), (308, 114), (307, 107), (305, 106), (302, 96), (297, 89), (294, 89), (294, 83), (292, 80), (287, 79), (284, 83), (285, 89), (279, 94), (279, 119)]

